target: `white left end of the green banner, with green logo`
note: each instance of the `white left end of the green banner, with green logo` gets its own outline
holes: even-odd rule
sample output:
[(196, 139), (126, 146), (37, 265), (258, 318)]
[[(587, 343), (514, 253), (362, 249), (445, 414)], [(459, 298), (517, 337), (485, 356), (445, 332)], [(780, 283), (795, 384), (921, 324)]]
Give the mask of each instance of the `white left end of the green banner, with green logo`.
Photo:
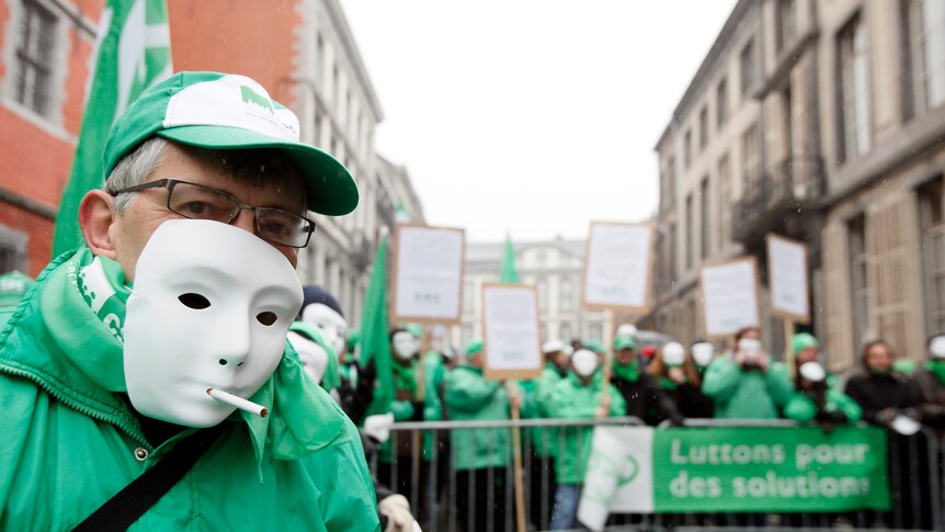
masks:
[(596, 427), (578, 520), (603, 530), (607, 516), (653, 511), (653, 429)]

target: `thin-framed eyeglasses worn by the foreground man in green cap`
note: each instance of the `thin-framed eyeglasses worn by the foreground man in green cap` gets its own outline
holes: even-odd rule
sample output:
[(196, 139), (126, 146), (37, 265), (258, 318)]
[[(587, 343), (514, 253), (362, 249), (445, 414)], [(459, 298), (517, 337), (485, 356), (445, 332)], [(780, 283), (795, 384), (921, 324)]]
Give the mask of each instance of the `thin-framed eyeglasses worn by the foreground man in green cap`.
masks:
[(248, 208), (253, 212), (255, 233), (260, 238), (289, 248), (308, 246), (308, 240), (315, 230), (315, 222), (304, 216), (282, 208), (255, 207), (221, 190), (179, 179), (159, 179), (107, 192), (116, 196), (125, 192), (139, 192), (146, 189), (167, 189), (168, 210), (185, 218), (212, 219), (229, 224), (239, 216), (240, 211)]

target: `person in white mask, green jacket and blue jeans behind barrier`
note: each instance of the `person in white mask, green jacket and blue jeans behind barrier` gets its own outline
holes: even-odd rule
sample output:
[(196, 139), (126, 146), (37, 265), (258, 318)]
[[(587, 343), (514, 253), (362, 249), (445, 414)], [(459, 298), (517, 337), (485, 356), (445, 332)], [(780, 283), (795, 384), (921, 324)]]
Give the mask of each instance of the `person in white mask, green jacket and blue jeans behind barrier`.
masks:
[[(547, 399), (547, 411), (559, 419), (594, 419), (624, 416), (627, 405), (613, 386), (603, 393), (604, 363), (602, 353), (591, 349), (578, 349), (571, 355), (568, 376), (559, 381)], [(578, 500), (584, 482), (584, 471), (591, 453), (593, 427), (568, 427), (561, 430), (560, 449), (557, 450), (558, 489), (551, 514), (551, 530), (565, 530), (574, 525)]]

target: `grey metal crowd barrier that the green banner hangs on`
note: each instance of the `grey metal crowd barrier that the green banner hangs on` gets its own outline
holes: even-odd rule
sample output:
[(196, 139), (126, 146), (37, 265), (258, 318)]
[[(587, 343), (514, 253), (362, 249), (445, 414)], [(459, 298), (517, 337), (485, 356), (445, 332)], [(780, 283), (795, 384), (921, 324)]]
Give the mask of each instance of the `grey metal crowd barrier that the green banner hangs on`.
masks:
[[(517, 428), (522, 442), (524, 508), (527, 530), (549, 530), (555, 494), (553, 461), (536, 456), (531, 450), (534, 431), (543, 443), (550, 443), (557, 431), (559, 449), (565, 437), (560, 429), (591, 426), (642, 427), (638, 418), (597, 420), (521, 419), (496, 421), (423, 421), (394, 423), (390, 432), (392, 450), (409, 453), (388, 460), (375, 454), (372, 473), (394, 491), (408, 497), (420, 525), (425, 532), (515, 531), (515, 497), (513, 450), (511, 435), (503, 450), (508, 467), (487, 467), (478, 475), (454, 468), (449, 448), (451, 432), (456, 430), (509, 430)], [(665, 427), (664, 426), (661, 426)], [(687, 419), (692, 428), (792, 428), (798, 423), (784, 420)], [(660, 428), (657, 428), (659, 430)], [(423, 438), (428, 452), (423, 453)], [(581, 434), (581, 432), (579, 432)], [(580, 439), (580, 435), (579, 435)], [(910, 530), (945, 531), (945, 439), (923, 429), (912, 437), (889, 433), (888, 475), (892, 508), (888, 512), (859, 510), (841, 513), (647, 513), (612, 514), (606, 530), (688, 531), (688, 530)], [(579, 441), (579, 446), (580, 446)], [(433, 449), (434, 452), (429, 452)], [(492, 450), (490, 450), (492, 451)], [(477, 500), (474, 484), (485, 482), (497, 489), (488, 490), (486, 500)], [(465, 482), (466, 485), (460, 485)], [(465, 489), (464, 489), (465, 487)], [(465, 496), (459, 500), (457, 496)], [(485, 508), (483, 508), (485, 506)], [(478, 510), (478, 511), (477, 511)], [(485, 519), (479, 519), (485, 513)], [(478, 516), (477, 516), (478, 514)], [(465, 516), (465, 522), (462, 517)]]

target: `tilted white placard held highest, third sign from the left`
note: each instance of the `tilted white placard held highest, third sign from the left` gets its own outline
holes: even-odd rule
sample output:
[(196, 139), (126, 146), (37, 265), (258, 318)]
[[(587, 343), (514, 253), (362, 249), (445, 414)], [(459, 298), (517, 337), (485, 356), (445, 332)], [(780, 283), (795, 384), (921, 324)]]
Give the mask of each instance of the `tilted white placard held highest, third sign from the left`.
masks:
[(584, 306), (647, 312), (652, 248), (651, 225), (592, 223), (584, 270)]

